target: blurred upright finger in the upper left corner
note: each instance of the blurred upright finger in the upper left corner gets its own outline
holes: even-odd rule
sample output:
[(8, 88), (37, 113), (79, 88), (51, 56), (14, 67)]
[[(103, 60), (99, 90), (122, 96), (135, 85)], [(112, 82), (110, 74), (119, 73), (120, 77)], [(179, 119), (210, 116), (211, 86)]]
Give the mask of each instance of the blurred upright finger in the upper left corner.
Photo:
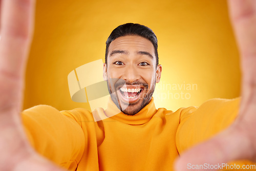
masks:
[(33, 0), (3, 0), (0, 69), (20, 77), (28, 55), (34, 17)]

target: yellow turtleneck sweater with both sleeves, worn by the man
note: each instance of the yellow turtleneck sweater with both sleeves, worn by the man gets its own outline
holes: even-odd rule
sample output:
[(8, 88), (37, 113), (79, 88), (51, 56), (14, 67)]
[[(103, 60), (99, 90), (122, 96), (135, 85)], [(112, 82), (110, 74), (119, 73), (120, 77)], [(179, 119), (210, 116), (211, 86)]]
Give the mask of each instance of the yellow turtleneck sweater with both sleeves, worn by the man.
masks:
[[(110, 99), (97, 109), (61, 111), (38, 105), (23, 112), (28, 138), (38, 153), (75, 170), (173, 170), (185, 149), (220, 132), (236, 118), (239, 99), (212, 99), (199, 108), (156, 109), (154, 99), (128, 116)], [(113, 114), (116, 114), (114, 115)], [(95, 115), (96, 114), (96, 115)]]

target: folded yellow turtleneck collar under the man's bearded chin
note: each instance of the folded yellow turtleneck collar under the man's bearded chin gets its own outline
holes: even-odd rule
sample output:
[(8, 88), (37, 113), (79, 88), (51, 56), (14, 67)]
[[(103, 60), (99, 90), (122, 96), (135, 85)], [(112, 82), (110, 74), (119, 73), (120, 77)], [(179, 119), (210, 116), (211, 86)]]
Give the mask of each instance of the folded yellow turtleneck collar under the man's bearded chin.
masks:
[(157, 110), (153, 97), (151, 101), (142, 110), (140, 110), (140, 112), (131, 116), (122, 113), (112, 99), (109, 98), (105, 115), (126, 124), (139, 125), (150, 121), (156, 112)]

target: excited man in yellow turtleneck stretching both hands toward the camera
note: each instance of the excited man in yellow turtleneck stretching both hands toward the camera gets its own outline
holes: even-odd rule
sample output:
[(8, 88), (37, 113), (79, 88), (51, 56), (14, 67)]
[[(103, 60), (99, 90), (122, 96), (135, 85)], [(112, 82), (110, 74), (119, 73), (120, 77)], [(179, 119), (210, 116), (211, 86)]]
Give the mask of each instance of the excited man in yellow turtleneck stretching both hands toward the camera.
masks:
[[(176, 165), (179, 170), (187, 170), (188, 163), (217, 164), (238, 159), (256, 161), (256, 136), (253, 132), (256, 121), (256, 3), (233, 0), (229, 4), (243, 68), (239, 116), (227, 130), (183, 153)], [(32, 150), (19, 118), (33, 9), (32, 0), (2, 1), (1, 170), (60, 170)], [(24, 111), (23, 121), (30, 144), (56, 164), (73, 170), (172, 169), (178, 152), (182, 153), (193, 145), (185, 141), (186, 131), (194, 123), (191, 121), (199, 124), (198, 135), (201, 137), (196, 138), (196, 142), (206, 138), (200, 134), (204, 127), (200, 127), (198, 116), (206, 117), (210, 124), (210, 116), (222, 119), (220, 115), (227, 116), (228, 112), (231, 119), (221, 125), (221, 130), (236, 117), (238, 100), (210, 100), (200, 110), (193, 107), (175, 113), (156, 110), (151, 95), (155, 82), (160, 81), (161, 66), (157, 65), (154, 42), (141, 35), (127, 34), (113, 38), (106, 50), (104, 78), (108, 80), (113, 101), (109, 101), (106, 110), (98, 109), (96, 112), (109, 118), (92, 122), (93, 116), (87, 110), (59, 112), (45, 105)], [(212, 115), (204, 115), (206, 112)], [(113, 116), (113, 113), (118, 114)], [(197, 129), (197, 124), (192, 129)], [(220, 130), (214, 128), (211, 131), (210, 134), (216, 134)], [(188, 135), (188, 140), (193, 140), (193, 137)]]

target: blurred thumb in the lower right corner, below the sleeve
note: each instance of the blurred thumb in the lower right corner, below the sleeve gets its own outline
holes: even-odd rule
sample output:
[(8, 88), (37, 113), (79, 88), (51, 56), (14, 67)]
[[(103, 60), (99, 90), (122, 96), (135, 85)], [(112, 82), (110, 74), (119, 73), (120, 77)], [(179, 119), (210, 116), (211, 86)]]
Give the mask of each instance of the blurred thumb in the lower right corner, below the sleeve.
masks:
[(216, 166), (222, 165), (222, 163), (251, 157), (252, 154), (248, 151), (251, 145), (250, 141), (240, 132), (241, 130), (231, 128), (211, 140), (189, 149), (184, 154), (181, 154), (176, 161), (176, 170), (185, 171), (191, 165), (200, 166), (205, 164), (207, 166), (215, 166), (215, 169), (204, 167), (201, 170), (220, 170)]

